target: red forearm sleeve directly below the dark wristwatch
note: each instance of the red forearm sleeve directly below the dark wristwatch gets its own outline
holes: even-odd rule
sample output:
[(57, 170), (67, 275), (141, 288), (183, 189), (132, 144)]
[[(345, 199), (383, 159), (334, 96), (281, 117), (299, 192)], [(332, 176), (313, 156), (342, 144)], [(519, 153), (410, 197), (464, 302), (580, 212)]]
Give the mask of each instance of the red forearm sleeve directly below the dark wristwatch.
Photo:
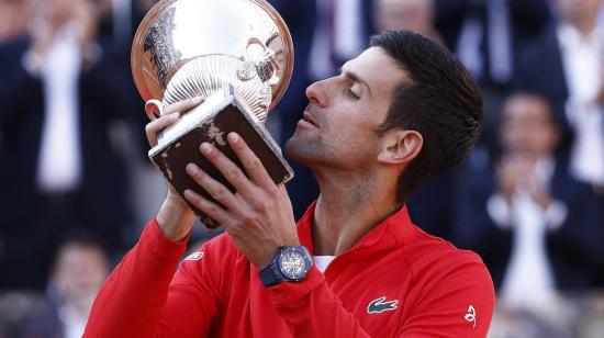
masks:
[(293, 337), (369, 337), (315, 266), (300, 283), (269, 288), (272, 303)]

